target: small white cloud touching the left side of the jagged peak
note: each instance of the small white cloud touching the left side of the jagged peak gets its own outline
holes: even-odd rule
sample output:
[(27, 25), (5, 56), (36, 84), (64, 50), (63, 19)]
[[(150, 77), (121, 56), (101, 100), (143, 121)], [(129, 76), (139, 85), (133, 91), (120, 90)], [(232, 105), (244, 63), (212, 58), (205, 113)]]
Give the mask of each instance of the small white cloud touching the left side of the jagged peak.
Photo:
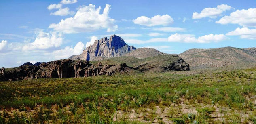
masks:
[(64, 49), (55, 50), (51, 53), (55, 59), (67, 59), (72, 55), (79, 55), (85, 49), (83, 42), (78, 42), (74, 48), (66, 46)]

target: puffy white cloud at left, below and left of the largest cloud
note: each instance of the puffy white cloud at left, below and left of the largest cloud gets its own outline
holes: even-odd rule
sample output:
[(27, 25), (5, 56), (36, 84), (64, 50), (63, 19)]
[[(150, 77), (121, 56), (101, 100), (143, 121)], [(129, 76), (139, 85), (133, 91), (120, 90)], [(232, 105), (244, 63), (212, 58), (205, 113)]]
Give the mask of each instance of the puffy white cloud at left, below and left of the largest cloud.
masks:
[(63, 38), (61, 37), (61, 34), (57, 34), (56, 32), (46, 33), (40, 31), (37, 33), (35, 41), (23, 46), (23, 50), (56, 48), (61, 46), (62, 40)]

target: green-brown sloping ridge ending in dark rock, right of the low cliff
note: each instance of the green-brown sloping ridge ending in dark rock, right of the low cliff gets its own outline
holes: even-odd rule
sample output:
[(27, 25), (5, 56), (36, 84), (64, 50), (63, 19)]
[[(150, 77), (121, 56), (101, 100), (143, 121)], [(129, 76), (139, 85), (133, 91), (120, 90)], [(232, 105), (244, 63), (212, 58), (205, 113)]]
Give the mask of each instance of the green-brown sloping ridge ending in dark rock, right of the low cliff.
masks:
[(186, 71), (189, 70), (189, 65), (178, 55), (156, 55), (138, 59), (131, 56), (113, 57), (101, 61), (103, 64), (108, 63), (126, 63), (129, 67), (135, 70), (145, 72), (165, 72), (165, 71)]

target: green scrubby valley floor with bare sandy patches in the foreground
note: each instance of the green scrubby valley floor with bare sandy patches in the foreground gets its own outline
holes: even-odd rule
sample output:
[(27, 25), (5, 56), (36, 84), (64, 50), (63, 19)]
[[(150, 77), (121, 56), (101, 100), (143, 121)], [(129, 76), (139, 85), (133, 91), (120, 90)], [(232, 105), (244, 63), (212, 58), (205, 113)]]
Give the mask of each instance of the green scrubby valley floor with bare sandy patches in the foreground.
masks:
[(256, 68), (0, 82), (0, 124), (252, 124)]

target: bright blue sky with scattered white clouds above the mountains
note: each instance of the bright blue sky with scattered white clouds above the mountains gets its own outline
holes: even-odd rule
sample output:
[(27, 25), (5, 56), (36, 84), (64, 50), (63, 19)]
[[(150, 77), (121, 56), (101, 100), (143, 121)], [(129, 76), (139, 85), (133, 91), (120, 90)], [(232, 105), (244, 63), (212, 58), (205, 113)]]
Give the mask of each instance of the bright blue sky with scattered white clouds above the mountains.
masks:
[(165, 53), (255, 47), (255, 5), (256, 0), (1, 0), (0, 67), (66, 59), (112, 34), (136, 48)]

